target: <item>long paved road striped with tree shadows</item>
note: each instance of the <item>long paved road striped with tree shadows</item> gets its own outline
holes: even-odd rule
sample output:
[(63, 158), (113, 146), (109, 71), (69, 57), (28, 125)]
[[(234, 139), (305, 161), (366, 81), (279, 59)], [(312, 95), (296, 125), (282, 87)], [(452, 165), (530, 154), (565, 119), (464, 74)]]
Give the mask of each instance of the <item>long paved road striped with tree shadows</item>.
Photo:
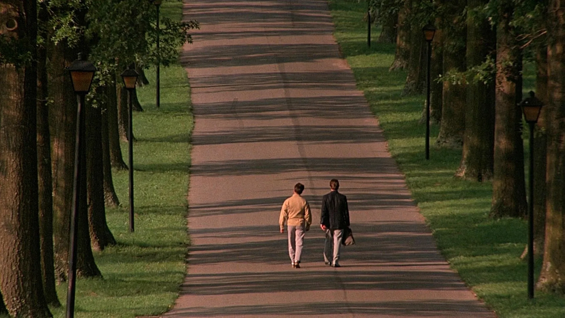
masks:
[[(323, 0), (185, 1), (196, 119), (181, 296), (167, 317), (494, 317), (438, 253)], [(320, 199), (338, 178), (357, 240), (323, 263)], [(292, 269), (282, 201), (306, 185), (315, 226)]]

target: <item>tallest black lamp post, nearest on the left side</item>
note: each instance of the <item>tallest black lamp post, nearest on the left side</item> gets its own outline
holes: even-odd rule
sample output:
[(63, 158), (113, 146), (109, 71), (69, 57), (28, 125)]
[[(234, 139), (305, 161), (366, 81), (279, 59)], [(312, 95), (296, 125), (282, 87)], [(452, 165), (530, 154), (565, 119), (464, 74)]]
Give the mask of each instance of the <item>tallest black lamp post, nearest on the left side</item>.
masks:
[(75, 137), (75, 176), (73, 179), (73, 209), (71, 214), (71, 233), (69, 240), (69, 272), (67, 288), (67, 318), (75, 316), (75, 287), (76, 287), (76, 257), (77, 257), (77, 230), (79, 227), (79, 197), (81, 192), (81, 169), (84, 162), (81, 161), (81, 154), (84, 151), (85, 139), (85, 116), (84, 116), (84, 97), (90, 90), (90, 84), (94, 77), (96, 68), (92, 63), (83, 61), (81, 54), (67, 67), (71, 75), (73, 91), (76, 93), (76, 137)]

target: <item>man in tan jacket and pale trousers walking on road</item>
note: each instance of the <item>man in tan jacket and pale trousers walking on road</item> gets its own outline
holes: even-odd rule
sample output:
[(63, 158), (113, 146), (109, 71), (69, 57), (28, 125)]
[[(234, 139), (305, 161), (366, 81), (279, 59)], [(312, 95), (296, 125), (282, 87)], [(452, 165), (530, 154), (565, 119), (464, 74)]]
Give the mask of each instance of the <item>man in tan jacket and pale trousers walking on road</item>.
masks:
[(279, 217), (281, 233), (284, 233), (285, 223), (288, 230), (288, 255), (293, 268), (300, 268), (304, 232), (310, 230), (310, 224), (312, 224), (310, 205), (301, 196), (302, 191), (304, 191), (304, 184), (295, 184), (294, 194), (282, 204)]

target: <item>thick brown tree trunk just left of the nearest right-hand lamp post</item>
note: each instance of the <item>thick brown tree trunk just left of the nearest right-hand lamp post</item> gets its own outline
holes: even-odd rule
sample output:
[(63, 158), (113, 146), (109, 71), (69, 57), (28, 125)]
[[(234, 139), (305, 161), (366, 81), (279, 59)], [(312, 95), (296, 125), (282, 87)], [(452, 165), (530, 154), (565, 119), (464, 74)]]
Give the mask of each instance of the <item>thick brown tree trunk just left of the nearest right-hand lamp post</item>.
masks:
[(524, 183), (522, 114), (516, 107), (520, 79), (520, 50), (510, 26), (514, 8), (499, 4), (497, 27), (496, 114), (494, 124), (494, 174), (490, 217), (524, 217), (527, 210)]

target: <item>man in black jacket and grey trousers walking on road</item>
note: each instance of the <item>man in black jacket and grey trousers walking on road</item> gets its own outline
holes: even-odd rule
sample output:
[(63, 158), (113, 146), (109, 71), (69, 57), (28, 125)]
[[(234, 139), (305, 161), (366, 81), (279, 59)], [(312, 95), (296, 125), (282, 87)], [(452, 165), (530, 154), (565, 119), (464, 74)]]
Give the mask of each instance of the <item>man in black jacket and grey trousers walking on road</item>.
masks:
[[(340, 182), (332, 179), (329, 182), (331, 192), (321, 199), (320, 227), (325, 231), (324, 261), (326, 265), (340, 267), (341, 238), (344, 229), (349, 227), (349, 208), (347, 197), (337, 192)], [(333, 256), (331, 255), (333, 245)]]

